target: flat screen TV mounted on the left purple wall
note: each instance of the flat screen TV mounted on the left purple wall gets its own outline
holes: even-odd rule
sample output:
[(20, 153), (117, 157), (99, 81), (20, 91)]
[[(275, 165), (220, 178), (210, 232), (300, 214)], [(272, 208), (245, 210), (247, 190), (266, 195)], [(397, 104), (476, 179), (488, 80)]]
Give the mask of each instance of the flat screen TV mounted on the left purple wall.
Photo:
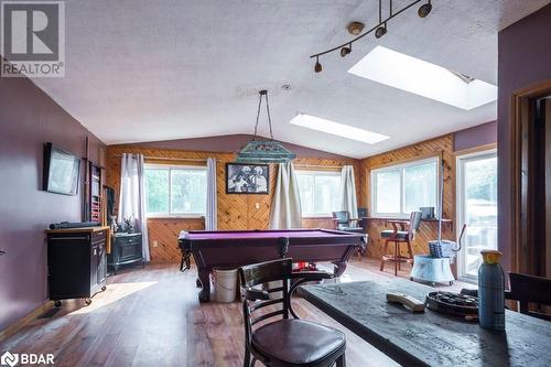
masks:
[(44, 144), (44, 191), (76, 195), (80, 176), (80, 159), (75, 154), (53, 145)]

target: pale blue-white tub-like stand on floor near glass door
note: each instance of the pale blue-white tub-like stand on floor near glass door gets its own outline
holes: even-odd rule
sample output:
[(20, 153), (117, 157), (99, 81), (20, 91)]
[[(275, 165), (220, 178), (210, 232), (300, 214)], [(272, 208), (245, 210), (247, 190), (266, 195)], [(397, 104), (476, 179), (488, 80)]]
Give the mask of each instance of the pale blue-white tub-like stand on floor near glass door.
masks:
[(450, 267), (450, 258), (433, 258), (430, 255), (415, 255), (410, 280), (422, 280), (432, 283), (453, 284), (455, 278)]

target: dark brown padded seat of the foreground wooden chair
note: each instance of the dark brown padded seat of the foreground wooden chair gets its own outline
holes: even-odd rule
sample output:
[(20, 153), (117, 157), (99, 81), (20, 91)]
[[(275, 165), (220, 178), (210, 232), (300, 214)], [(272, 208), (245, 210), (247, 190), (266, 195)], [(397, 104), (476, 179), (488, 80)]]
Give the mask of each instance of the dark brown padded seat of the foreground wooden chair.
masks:
[(346, 345), (345, 335), (328, 326), (303, 320), (280, 320), (252, 333), (252, 345), (281, 361), (302, 365), (324, 359)]

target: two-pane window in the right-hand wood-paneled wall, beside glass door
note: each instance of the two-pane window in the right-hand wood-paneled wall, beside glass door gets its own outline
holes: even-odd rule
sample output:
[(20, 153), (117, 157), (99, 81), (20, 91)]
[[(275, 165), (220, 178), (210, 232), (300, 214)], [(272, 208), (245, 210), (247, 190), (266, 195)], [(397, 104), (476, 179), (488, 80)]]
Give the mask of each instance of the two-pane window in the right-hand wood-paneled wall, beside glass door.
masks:
[(372, 215), (409, 218), (422, 206), (437, 208), (437, 158), (372, 170)]

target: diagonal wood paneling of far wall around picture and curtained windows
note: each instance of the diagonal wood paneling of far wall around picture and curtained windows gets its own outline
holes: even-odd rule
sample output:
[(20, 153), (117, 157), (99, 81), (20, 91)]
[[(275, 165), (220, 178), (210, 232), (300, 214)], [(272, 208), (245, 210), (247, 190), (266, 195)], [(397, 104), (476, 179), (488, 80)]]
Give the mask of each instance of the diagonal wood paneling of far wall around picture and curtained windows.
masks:
[[(107, 148), (107, 180), (106, 184), (115, 188), (117, 203), (120, 190), (120, 156), (122, 153), (141, 153), (144, 156), (156, 159), (145, 159), (147, 163), (166, 164), (201, 164), (201, 162), (182, 162), (171, 159), (206, 159), (217, 160), (217, 199), (218, 199), (218, 229), (267, 229), (270, 223), (270, 206), (272, 193), (276, 186), (277, 168), (270, 165), (270, 194), (268, 195), (231, 195), (226, 194), (226, 163), (235, 160), (234, 153), (215, 153), (184, 150), (160, 150), (137, 145), (111, 145)], [(294, 161), (298, 169), (311, 166), (311, 170), (336, 168), (352, 164), (356, 172), (356, 188), (359, 193), (360, 179), (359, 161), (354, 159), (313, 159), (298, 158)], [(315, 168), (312, 168), (315, 166)], [(258, 203), (258, 209), (257, 209)], [(307, 228), (332, 228), (333, 224), (328, 218), (305, 218), (303, 226)], [(202, 218), (152, 218), (148, 220), (149, 241), (152, 262), (177, 262), (180, 251), (176, 249), (176, 238), (183, 229), (204, 229)], [(153, 247), (156, 241), (158, 247)]]

